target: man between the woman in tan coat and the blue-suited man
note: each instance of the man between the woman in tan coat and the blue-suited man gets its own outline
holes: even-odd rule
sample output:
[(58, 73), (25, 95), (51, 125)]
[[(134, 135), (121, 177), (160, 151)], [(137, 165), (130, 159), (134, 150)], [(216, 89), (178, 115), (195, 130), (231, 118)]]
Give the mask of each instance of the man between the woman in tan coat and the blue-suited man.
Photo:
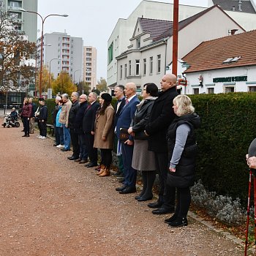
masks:
[(115, 127), (115, 138), (114, 138), (114, 148), (116, 151), (116, 156), (118, 158), (118, 172), (116, 172), (117, 178), (123, 180), (124, 177), (124, 164), (123, 164), (123, 158), (121, 156), (121, 144), (116, 136), (116, 123), (120, 116), (121, 110), (124, 108), (125, 105), (125, 97), (124, 97), (124, 86), (115, 86), (114, 94), (116, 96), (117, 102), (114, 106), (115, 110), (115, 118), (114, 118), (114, 127)]

